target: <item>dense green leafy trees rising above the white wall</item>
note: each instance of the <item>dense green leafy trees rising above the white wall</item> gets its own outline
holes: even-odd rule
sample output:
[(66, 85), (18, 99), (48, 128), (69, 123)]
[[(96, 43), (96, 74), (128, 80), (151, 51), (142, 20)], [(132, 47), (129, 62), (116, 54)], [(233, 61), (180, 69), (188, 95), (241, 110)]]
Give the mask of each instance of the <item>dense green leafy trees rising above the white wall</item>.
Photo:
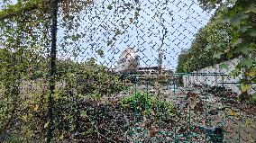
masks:
[[(193, 72), (204, 67), (242, 56), (231, 76), (243, 75), (242, 92), (255, 83), (256, 73), (256, 2), (254, 0), (207, 1), (199, 0), (206, 10), (217, 7), (207, 25), (197, 31), (191, 48), (178, 57), (178, 72)], [(229, 68), (222, 64), (220, 68)], [(251, 99), (255, 98), (251, 96)]]

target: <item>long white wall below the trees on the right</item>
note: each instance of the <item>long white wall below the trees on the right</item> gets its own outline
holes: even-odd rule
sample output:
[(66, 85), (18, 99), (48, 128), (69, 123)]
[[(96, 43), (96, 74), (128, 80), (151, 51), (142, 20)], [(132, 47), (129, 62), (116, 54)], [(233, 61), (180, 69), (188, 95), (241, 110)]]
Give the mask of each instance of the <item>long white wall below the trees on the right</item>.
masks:
[[(229, 75), (235, 66), (242, 60), (242, 57), (233, 58), (228, 61), (224, 61), (220, 64), (216, 64), (213, 67), (205, 67), (202, 69), (199, 69), (197, 71), (194, 71), (192, 73), (206, 73), (206, 74), (224, 74)], [(228, 68), (221, 68), (221, 65), (225, 64), (228, 66)], [(239, 80), (242, 79), (242, 74), (239, 76), (233, 77), (233, 76), (183, 76), (183, 83), (185, 87), (191, 87), (192, 85), (210, 85), (210, 86), (222, 86), (222, 83), (224, 83), (224, 87), (232, 89), (233, 92), (237, 94), (241, 94), (241, 91), (238, 87)], [(251, 85), (251, 89), (249, 89), (248, 93), (253, 94), (255, 93), (256, 85)]]

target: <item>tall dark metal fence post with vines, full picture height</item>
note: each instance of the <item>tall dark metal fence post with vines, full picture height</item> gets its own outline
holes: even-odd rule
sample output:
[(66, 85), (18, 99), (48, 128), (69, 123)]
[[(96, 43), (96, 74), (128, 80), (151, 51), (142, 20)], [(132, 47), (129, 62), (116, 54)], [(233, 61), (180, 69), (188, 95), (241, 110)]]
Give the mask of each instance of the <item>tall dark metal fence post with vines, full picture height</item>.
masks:
[(52, 1), (52, 12), (51, 12), (51, 48), (50, 48), (50, 94), (48, 97), (48, 120), (49, 124), (47, 126), (46, 142), (50, 143), (52, 136), (52, 123), (53, 123), (53, 113), (52, 113), (52, 95), (55, 89), (55, 74), (56, 74), (56, 42), (57, 42), (57, 14), (58, 14), (58, 0)]

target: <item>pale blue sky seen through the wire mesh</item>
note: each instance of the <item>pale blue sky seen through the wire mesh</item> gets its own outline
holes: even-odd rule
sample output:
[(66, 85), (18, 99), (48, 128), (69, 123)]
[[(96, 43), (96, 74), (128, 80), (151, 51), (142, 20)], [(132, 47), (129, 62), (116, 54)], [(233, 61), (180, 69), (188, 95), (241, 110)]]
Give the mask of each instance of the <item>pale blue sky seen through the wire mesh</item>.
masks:
[[(152, 67), (157, 66), (158, 49), (161, 47), (163, 67), (174, 69), (178, 65), (180, 51), (190, 48), (194, 35), (213, 14), (204, 12), (195, 0), (135, 1), (95, 0), (79, 13), (79, 19), (75, 18), (71, 23), (78, 26), (70, 31), (62, 26), (59, 16), (58, 58), (77, 61), (96, 58), (97, 63), (114, 67), (123, 49), (132, 47), (140, 56), (141, 67)], [(107, 8), (109, 5), (112, 9)], [(139, 7), (138, 19), (133, 19), (136, 23), (130, 23), (135, 9)], [(164, 40), (163, 28), (167, 30)], [(117, 29), (123, 33), (113, 40)], [(64, 39), (76, 34), (84, 36), (76, 41)], [(107, 46), (109, 40), (113, 40), (112, 46)], [(96, 53), (99, 49), (104, 51), (104, 57)]]

